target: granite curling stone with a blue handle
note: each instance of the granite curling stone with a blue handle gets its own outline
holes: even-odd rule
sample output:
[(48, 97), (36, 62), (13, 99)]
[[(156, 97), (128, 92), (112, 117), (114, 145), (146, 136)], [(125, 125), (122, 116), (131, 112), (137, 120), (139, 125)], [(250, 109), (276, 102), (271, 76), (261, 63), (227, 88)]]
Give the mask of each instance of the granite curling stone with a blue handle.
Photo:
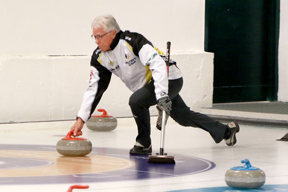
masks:
[(230, 187), (254, 189), (264, 185), (265, 173), (257, 167), (251, 166), (248, 159), (243, 159), (243, 167), (232, 167), (225, 173), (225, 182)]

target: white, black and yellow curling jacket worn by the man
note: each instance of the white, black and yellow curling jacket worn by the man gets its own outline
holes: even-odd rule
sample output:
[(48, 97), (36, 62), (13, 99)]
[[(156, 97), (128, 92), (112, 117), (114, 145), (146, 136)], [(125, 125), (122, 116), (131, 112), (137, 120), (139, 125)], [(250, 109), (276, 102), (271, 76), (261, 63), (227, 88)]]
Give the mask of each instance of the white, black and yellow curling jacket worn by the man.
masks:
[[(118, 76), (133, 92), (154, 79), (156, 99), (168, 94), (165, 55), (143, 35), (130, 31), (116, 34), (111, 50), (102, 52), (99, 47), (91, 57), (90, 82), (86, 89), (77, 117), (86, 122), (96, 109), (111, 74)], [(170, 60), (169, 79), (182, 77), (176, 62)]]

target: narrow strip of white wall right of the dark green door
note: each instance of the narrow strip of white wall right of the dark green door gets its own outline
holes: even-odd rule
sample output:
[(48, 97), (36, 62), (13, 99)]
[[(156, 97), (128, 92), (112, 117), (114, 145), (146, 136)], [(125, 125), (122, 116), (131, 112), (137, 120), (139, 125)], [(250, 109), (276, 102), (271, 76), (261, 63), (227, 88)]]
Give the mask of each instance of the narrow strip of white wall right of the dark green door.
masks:
[(280, 1), (278, 101), (288, 102), (288, 1)]

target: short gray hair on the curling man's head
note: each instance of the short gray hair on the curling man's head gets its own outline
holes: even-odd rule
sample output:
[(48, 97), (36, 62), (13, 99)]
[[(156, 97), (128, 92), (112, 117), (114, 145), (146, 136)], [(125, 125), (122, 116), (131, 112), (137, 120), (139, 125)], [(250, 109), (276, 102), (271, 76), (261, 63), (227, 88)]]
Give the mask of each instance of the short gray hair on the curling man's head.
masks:
[(120, 27), (116, 22), (116, 19), (112, 15), (101, 15), (93, 20), (91, 24), (92, 29), (102, 27), (107, 32), (112, 31), (114, 29), (116, 30), (117, 33), (120, 31)]

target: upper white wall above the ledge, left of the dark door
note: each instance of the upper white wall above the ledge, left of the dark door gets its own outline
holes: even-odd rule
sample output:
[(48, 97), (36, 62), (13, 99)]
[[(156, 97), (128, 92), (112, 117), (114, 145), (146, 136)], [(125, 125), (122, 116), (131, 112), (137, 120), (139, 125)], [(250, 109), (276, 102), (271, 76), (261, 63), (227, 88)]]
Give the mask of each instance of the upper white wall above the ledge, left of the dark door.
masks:
[(140, 32), (173, 52), (203, 50), (204, 0), (1, 0), (0, 55), (91, 55), (91, 22), (112, 14), (122, 30)]

